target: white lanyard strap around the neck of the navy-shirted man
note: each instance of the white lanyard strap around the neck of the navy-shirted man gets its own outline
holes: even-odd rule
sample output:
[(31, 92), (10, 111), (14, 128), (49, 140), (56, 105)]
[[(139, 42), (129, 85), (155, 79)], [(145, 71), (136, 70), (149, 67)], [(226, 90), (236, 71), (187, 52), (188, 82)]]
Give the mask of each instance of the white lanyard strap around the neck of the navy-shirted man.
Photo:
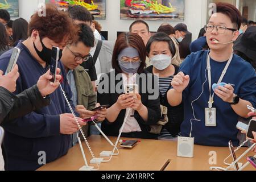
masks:
[[(223, 71), (222, 71), (222, 73), (221, 73), (221, 76), (220, 76), (220, 78), (218, 79), (218, 83), (217, 83), (217, 84), (219, 84), (219, 83), (222, 81), (222, 79), (223, 79), (223, 77), (225, 76), (226, 71), (227, 71), (227, 69), (228, 69), (228, 67), (229, 67), (229, 64), (231, 63), (232, 59), (233, 59), (233, 52), (232, 52), (232, 54), (230, 55), (229, 60), (228, 60), (228, 63), (226, 63), (226, 66), (225, 66), (225, 68), (223, 69)], [(211, 90), (211, 88), (212, 88), (212, 75), (211, 75), (211, 73), (210, 73), (210, 53), (208, 53), (208, 57), (207, 57), (207, 72), (208, 72), (208, 82), (209, 82), (209, 92), (210, 92), (210, 90)], [(208, 107), (209, 107), (210, 109), (212, 108), (213, 97), (214, 97), (214, 92), (213, 92), (212, 96), (209, 96)]]

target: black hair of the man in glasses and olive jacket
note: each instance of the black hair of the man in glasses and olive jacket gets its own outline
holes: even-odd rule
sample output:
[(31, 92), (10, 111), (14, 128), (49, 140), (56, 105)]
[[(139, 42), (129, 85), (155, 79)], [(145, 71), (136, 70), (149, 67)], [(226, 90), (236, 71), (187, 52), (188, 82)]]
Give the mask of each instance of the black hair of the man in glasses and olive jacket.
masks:
[(77, 41), (75, 44), (82, 42), (86, 47), (94, 47), (94, 35), (92, 28), (87, 24), (79, 24), (79, 32), (77, 32)]

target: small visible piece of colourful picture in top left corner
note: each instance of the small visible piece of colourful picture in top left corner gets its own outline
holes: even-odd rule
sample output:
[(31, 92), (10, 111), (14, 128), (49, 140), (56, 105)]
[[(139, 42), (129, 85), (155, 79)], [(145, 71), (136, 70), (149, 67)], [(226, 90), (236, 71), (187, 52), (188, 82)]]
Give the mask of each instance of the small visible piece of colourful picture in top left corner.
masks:
[(19, 16), (18, 0), (0, 0), (0, 9), (5, 9), (10, 13), (11, 17)]

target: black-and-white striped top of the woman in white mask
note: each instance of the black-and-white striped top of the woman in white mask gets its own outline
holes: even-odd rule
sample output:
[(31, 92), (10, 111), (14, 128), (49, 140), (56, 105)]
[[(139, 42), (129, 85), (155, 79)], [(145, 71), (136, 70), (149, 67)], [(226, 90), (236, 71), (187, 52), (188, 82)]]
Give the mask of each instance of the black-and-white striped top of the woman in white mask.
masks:
[[(161, 93), (162, 96), (165, 96), (165, 94), (168, 91), (168, 88), (171, 84), (172, 79), (174, 78), (174, 76), (169, 76), (169, 77), (159, 77), (158, 78), (158, 84), (159, 84), (159, 91)], [(173, 136), (172, 134), (170, 134), (170, 132), (166, 129), (165, 126), (163, 126), (161, 133), (158, 135), (159, 138), (164, 138), (164, 139), (168, 139), (168, 138), (175, 138), (177, 136), (180, 136), (181, 134), (177, 134), (175, 136)]]

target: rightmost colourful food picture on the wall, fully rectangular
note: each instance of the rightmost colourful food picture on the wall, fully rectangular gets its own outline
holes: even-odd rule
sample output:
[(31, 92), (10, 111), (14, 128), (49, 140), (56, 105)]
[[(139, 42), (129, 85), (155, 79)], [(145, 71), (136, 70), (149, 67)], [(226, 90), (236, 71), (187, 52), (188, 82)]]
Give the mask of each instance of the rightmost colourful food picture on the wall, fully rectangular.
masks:
[(184, 0), (120, 0), (120, 18), (184, 21), (184, 5)]

